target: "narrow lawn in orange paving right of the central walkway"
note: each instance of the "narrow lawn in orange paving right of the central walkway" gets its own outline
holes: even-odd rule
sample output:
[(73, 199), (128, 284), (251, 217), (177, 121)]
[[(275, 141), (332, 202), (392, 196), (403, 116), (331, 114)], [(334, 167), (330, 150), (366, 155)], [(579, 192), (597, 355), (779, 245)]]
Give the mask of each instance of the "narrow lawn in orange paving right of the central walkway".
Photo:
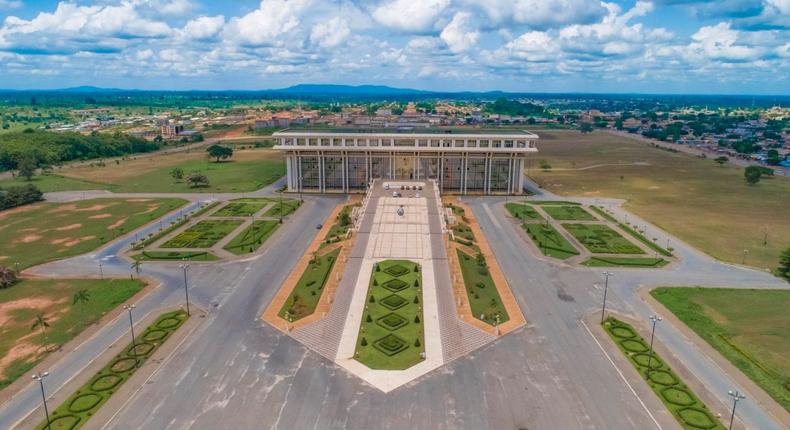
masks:
[(510, 316), (499, 297), (488, 267), (461, 250), (457, 252), (466, 286), (466, 297), (474, 317), (492, 326), (497, 324), (497, 315), (500, 324), (509, 320)]

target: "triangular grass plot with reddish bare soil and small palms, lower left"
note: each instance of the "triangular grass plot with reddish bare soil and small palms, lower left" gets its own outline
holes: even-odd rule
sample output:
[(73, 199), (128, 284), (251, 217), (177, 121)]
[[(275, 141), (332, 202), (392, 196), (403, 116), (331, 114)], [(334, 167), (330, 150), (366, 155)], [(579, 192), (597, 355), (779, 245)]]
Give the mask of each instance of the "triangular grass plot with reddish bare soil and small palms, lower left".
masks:
[[(25, 279), (0, 289), (0, 388), (144, 286), (129, 279)], [(74, 303), (74, 293), (82, 289), (88, 301)], [(46, 341), (39, 328), (31, 329), (38, 314), (49, 324)]]

